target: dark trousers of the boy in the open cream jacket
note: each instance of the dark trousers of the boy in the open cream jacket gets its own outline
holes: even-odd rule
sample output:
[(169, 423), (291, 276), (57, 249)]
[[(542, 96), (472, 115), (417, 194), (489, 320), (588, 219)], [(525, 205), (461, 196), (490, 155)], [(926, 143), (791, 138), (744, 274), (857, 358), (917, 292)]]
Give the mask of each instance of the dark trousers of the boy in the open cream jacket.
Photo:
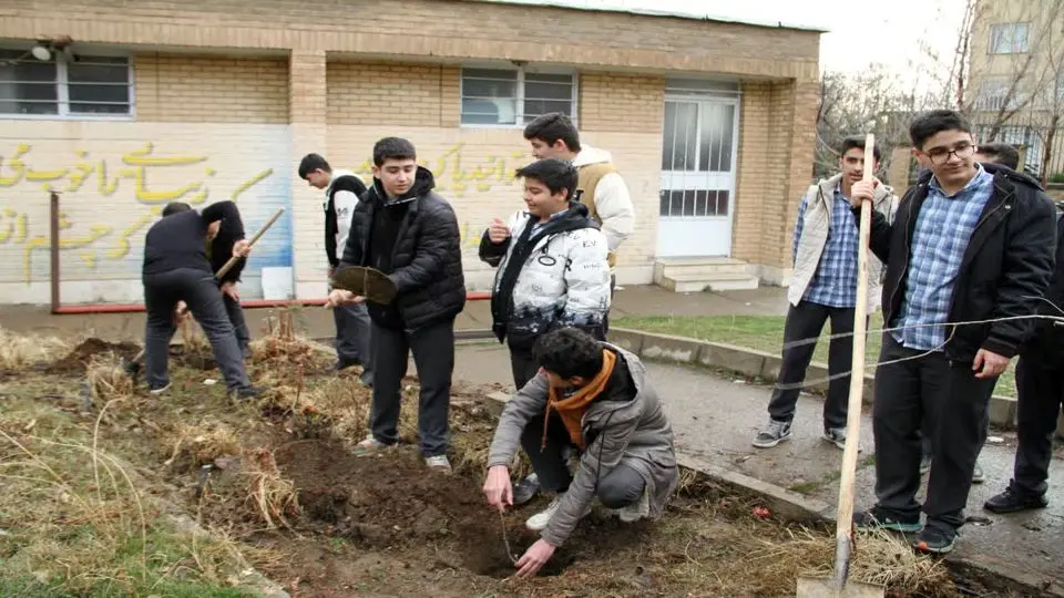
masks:
[[(849, 334), (853, 332), (853, 308), (832, 308), (799, 301), (790, 306), (787, 311), (787, 322), (784, 324), (784, 344), (816, 339), (823, 330), (823, 324), (831, 320), (831, 334)], [(779, 368), (779, 380), (773, 398), (768, 403), (768, 414), (777, 422), (790, 422), (795, 419), (795, 406), (798, 404), (797, 388), (806, 380), (806, 370), (812, 361), (812, 353), (817, 343), (799, 344), (784, 349), (782, 363)], [(853, 337), (846, 336), (831, 339), (828, 346), (828, 373), (830, 375), (850, 371), (853, 362)], [(789, 385), (791, 388), (778, 388)], [(823, 427), (846, 427), (846, 412), (850, 396), (850, 377), (841, 375), (828, 383), (828, 396), (823, 401)]]

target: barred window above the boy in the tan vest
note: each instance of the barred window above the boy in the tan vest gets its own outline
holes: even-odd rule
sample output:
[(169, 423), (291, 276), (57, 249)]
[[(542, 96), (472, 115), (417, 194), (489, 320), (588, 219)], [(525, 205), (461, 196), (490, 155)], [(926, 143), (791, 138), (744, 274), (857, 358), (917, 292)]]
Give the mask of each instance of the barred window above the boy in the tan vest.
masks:
[(575, 75), (462, 69), (462, 124), (519, 126), (549, 112), (562, 112), (575, 121)]

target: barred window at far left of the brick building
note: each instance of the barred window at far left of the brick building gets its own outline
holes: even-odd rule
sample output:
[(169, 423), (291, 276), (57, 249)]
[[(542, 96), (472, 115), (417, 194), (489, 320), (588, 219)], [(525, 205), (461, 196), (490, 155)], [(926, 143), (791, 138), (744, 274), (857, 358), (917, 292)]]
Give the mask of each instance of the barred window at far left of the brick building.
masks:
[(127, 56), (53, 53), (42, 61), (0, 49), (0, 115), (122, 116), (132, 113)]

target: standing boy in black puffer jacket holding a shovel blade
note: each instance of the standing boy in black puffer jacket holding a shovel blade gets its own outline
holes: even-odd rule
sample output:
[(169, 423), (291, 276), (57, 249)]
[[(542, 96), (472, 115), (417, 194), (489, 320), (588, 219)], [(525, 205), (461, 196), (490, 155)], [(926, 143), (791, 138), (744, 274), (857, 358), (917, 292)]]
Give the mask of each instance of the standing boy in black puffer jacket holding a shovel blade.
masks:
[[(340, 268), (369, 266), (396, 286), (388, 305), (367, 303), (372, 320), (374, 400), (370, 434), (356, 448), (368, 454), (399, 442), (399, 406), (409, 354), (421, 383), (418, 435), (426, 464), (451, 471), (448, 411), (454, 369), (454, 318), (466, 307), (458, 218), (436, 194), (432, 173), (418, 166), (407, 140), (374, 146), (374, 186), (355, 208)], [(361, 302), (334, 290), (334, 307)]]

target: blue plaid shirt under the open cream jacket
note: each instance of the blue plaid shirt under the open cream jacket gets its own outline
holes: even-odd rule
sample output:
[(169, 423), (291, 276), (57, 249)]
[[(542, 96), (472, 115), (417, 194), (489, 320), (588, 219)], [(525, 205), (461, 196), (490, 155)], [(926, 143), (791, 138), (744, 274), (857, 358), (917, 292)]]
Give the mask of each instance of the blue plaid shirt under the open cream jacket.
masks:
[[(842, 195), (841, 186), (832, 194), (831, 221), (828, 224), (828, 239), (820, 254), (817, 272), (806, 288), (802, 301), (835, 308), (852, 308), (857, 305), (857, 245), (858, 229), (850, 212), (850, 200)], [(794, 254), (798, 255), (798, 240), (806, 219), (806, 198), (798, 206), (798, 221), (795, 224)]]

